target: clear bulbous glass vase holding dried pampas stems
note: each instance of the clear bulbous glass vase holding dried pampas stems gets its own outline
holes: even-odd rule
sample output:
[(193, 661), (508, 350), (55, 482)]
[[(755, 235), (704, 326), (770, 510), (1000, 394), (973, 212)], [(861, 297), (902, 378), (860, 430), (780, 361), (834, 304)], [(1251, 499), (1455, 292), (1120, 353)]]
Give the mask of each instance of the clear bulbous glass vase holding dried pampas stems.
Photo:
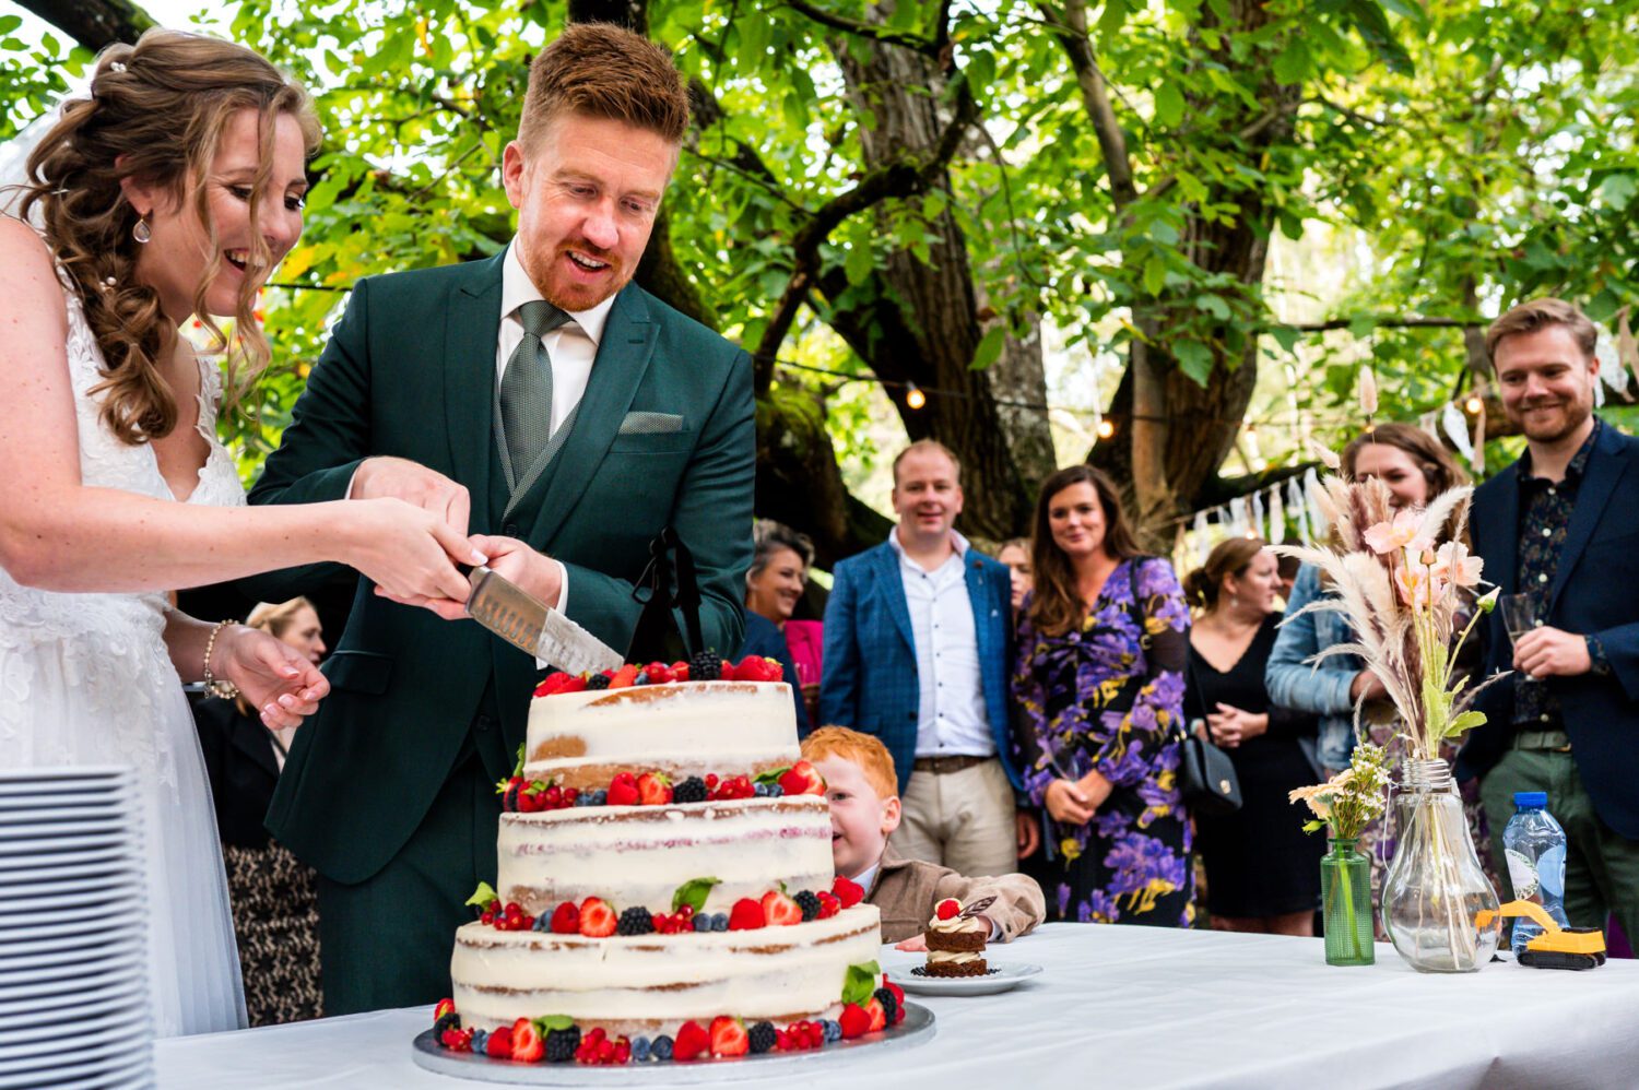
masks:
[[(1451, 765), (1408, 757), (1401, 780), (1395, 857), (1383, 879), (1383, 929), (1418, 972), (1475, 972), (1496, 952), (1501, 920)], [(1491, 915), (1482, 928), (1475, 918), (1485, 910)]]

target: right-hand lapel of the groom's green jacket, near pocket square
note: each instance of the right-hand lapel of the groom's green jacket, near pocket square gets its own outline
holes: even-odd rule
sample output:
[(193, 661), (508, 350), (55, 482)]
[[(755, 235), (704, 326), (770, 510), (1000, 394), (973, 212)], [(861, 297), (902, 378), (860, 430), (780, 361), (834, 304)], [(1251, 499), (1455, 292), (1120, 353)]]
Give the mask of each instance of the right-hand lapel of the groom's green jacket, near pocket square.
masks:
[[(547, 472), (529, 487), (529, 493), (544, 490), (529, 531), (529, 544), (536, 549), (551, 549), (564, 520), (585, 495), (587, 482), (615, 443), (621, 420), (626, 418), (638, 395), (638, 385), (649, 369), (656, 334), (657, 328), (649, 316), (642, 290), (626, 285), (615, 298), (615, 307), (610, 308), (608, 321), (603, 325), (603, 339), (598, 343), (587, 392), (575, 410), (569, 436)], [(516, 510), (524, 503), (526, 497), (513, 497), (510, 506)]]

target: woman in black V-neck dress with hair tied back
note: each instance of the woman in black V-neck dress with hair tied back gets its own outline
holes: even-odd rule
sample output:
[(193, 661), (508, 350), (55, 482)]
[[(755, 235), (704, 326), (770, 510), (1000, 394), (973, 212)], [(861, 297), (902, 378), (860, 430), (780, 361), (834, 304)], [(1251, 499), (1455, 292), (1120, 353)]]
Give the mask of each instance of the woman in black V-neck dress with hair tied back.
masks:
[(1264, 667), (1275, 646), (1280, 572), (1257, 538), (1229, 538), (1190, 572), (1183, 590), (1200, 613), (1190, 629), (1192, 729), (1208, 731), (1241, 780), (1241, 810), (1196, 815), (1195, 849), (1206, 864), (1206, 906), (1219, 931), (1314, 934), (1321, 836), (1303, 831), (1287, 802), (1295, 787), (1319, 782), (1305, 752), (1314, 720), (1272, 705)]

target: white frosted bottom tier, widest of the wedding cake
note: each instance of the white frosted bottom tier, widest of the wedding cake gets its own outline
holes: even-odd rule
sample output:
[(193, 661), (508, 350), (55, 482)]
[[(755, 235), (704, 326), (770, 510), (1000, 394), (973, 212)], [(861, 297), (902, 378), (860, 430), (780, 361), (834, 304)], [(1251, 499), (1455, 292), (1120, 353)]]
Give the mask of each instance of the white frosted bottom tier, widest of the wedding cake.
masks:
[(469, 923), (449, 974), (467, 1028), (569, 1015), (582, 1026), (659, 1023), (675, 1034), (718, 1015), (747, 1024), (820, 1018), (836, 1010), (847, 967), (875, 961), (880, 944), (875, 905), (787, 928), (608, 939)]

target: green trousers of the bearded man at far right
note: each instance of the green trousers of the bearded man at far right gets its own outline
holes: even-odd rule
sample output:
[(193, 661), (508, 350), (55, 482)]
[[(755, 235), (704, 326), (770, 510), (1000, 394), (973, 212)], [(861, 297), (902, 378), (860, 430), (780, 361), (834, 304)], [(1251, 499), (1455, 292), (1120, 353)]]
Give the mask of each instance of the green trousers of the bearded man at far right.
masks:
[[(1547, 792), (1547, 811), (1565, 829), (1565, 918), (1573, 928), (1605, 929), (1616, 916), (1628, 941), (1639, 941), (1639, 841), (1611, 831), (1593, 811), (1577, 759), (1552, 749), (1510, 749), (1480, 782), (1491, 824), (1491, 852), (1501, 864), (1503, 829), (1514, 815), (1514, 792)], [(1510, 885), (1508, 867), (1498, 865)]]

